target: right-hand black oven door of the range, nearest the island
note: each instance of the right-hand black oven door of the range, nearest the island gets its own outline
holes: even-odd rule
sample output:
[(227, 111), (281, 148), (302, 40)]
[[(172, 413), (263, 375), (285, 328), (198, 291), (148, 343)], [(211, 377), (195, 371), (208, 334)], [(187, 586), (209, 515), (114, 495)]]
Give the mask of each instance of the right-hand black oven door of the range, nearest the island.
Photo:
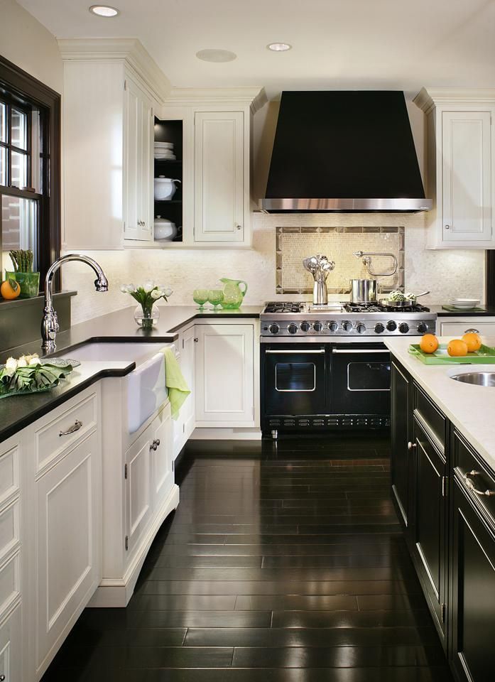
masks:
[(390, 412), (390, 353), (382, 344), (338, 344), (332, 347), (332, 412)]

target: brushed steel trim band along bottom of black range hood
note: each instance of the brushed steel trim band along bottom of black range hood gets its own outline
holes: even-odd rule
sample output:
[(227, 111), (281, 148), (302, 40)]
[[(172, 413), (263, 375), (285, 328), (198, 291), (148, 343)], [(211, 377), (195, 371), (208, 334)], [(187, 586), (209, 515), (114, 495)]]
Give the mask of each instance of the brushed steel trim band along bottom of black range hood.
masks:
[(433, 207), (431, 199), (261, 199), (261, 210), (268, 212), (420, 212)]

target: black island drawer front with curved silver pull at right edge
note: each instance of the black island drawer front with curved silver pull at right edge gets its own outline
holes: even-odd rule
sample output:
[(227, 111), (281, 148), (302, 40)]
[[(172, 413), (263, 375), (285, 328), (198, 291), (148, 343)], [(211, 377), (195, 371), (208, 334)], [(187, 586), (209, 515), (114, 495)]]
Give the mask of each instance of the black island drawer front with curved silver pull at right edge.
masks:
[[(475, 500), (489, 516), (495, 528), (495, 473), (469, 448), (456, 430), (452, 438), (453, 466), (467, 490), (468, 497)], [(491, 494), (488, 494), (491, 493)]]

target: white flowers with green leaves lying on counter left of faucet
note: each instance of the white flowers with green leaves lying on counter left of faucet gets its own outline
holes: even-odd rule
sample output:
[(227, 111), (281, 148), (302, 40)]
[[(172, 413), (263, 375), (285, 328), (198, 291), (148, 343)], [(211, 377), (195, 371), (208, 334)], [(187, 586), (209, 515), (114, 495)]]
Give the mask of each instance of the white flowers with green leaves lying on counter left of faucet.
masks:
[(0, 398), (23, 393), (48, 391), (58, 386), (72, 372), (72, 365), (55, 367), (50, 362), (41, 362), (38, 354), (9, 357), (0, 369)]

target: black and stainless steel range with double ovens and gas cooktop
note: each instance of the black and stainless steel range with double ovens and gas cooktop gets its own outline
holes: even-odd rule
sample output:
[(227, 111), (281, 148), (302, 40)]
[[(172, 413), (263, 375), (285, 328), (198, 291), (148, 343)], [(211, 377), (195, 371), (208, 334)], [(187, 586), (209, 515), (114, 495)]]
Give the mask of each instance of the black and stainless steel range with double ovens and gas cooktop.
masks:
[(267, 303), (261, 313), (261, 429), (279, 433), (390, 424), (390, 354), (382, 339), (435, 332), (423, 305)]

